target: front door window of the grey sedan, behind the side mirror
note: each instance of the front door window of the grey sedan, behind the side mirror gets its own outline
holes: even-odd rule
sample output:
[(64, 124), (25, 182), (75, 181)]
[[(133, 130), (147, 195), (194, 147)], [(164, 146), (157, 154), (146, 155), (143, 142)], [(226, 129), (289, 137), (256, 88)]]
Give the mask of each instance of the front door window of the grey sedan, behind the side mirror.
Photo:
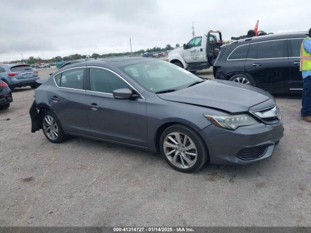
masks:
[(114, 90), (129, 88), (118, 75), (103, 68), (89, 68), (90, 90), (112, 94)]

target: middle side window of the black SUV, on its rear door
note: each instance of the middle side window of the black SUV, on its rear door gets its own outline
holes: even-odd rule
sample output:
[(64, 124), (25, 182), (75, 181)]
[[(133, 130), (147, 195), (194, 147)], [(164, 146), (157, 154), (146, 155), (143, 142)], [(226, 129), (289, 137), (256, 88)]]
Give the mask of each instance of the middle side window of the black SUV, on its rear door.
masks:
[(258, 43), (257, 59), (282, 57), (287, 57), (286, 40), (273, 40)]

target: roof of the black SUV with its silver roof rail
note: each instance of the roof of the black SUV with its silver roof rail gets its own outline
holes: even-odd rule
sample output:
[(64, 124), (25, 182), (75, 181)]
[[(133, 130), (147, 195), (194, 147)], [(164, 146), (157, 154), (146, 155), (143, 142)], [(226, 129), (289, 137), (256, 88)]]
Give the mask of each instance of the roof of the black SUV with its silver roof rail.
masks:
[(308, 32), (268, 34), (268, 35), (261, 35), (261, 36), (256, 36), (256, 37), (245, 38), (242, 40), (236, 40), (236, 41), (231, 42), (230, 44), (225, 44), (224, 46), (237, 45), (237, 44), (241, 44), (241, 43), (252, 43), (252, 42), (266, 41), (266, 40), (275, 40), (275, 39), (300, 38), (300, 37), (306, 37), (307, 35), (308, 35)]

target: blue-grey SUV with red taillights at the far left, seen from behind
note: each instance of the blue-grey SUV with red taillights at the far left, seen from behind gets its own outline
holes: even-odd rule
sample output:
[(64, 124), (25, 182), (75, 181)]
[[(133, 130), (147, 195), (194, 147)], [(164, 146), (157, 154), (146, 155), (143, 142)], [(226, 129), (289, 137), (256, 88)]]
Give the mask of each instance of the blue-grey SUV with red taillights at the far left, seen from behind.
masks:
[(37, 87), (38, 71), (27, 64), (0, 64), (0, 80), (13, 90), (16, 87)]

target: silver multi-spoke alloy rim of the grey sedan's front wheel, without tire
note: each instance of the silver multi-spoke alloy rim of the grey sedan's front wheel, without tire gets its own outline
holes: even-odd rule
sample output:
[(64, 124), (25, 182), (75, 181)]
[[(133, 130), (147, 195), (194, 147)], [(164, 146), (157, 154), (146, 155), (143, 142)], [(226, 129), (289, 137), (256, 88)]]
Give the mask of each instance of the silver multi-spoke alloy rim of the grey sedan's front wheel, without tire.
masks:
[(185, 133), (169, 133), (163, 142), (167, 159), (180, 168), (190, 168), (197, 160), (197, 149), (191, 138)]

